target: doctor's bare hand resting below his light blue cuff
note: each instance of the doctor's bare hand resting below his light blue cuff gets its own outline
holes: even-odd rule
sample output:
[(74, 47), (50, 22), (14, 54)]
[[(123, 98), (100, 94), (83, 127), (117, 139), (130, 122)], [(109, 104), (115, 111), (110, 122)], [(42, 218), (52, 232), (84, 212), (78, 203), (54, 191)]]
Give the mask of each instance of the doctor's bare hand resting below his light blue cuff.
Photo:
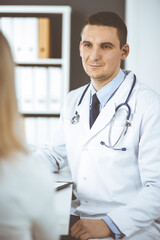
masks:
[(71, 235), (81, 240), (107, 238), (111, 234), (111, 230), (101, 219), (80, 219), (71, 228)]

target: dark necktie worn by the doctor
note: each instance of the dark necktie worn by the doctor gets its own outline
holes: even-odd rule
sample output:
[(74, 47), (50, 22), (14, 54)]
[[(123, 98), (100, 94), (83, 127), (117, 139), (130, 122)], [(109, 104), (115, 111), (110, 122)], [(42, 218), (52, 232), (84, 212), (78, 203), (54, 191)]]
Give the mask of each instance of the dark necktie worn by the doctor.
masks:
[(95, 122), (96, 118), (99, 114), (99, 100), (97, 98), (96, 93), (92, 96), (92, 104), (90, 109), (90, 128), (92, 127), (93, 123)]

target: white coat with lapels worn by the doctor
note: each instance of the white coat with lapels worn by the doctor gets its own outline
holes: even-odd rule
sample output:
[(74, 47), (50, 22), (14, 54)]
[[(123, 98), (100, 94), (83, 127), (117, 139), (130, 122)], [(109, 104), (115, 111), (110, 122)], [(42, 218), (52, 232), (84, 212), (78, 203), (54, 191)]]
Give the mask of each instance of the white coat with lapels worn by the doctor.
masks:
[[(109, 215), (126, 239), (160, 239), (160, 97), (136, 81), (129, 105), (131, 125), (113, 150), (101, 145), (108, 142), (111, 119), (115, 108), (125, 102), (133, 83), (130, 72), (115, 95), (89, 127), (90, 91), (71, 91), (61, 114), (53, 145), (39, 150), (55, 169), (70, 167), (77, 200), (73, 211), (81, 217), (101, 218)], [(80, 115), (77, 124), (71, 119)], [(124, 128), (125, 109), (113, 123), (111, 142), (114, 144)], [(134, 235), (142, 233), (144, 238)], [(146, 233), (147, 232), (147, 233)], [(129, 238), (131, 237), (131, 238)], [(148, 238), (147, 238), (148, 237)]]

